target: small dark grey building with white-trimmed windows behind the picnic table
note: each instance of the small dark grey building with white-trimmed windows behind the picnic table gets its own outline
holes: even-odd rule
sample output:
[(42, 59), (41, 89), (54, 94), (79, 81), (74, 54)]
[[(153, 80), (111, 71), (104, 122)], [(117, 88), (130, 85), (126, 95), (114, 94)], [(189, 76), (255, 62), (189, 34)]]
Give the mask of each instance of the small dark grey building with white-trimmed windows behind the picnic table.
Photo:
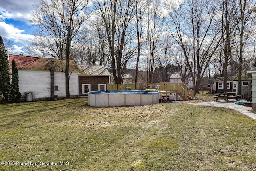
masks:
[[(251, 82), (251, 74), (246, 73), (246, 71), (242, 72), (242, 91), (241, 94), (248, 94), (248, 85)], [(236, 92), (238, 93), (238, 74), (234, 76), (232, 79), (231, 77), (227, 78), (227, 92)], [(217, 78), (213, 82), (213, 87), (216, 93), (223, 93), (224, 92), (224, 80), (223, 77)]]

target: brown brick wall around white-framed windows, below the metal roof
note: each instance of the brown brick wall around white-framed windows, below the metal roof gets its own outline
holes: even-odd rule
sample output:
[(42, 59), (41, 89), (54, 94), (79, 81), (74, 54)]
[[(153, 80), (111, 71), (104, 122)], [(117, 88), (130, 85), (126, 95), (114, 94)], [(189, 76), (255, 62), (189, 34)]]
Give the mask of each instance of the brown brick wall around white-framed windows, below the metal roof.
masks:
[(79, 96), (85, 96), (82, 93), (83, 84), (91, 84), (91, 91), (98, 91), (99, 84), (108, 84), (108, 76), (79, 76)]

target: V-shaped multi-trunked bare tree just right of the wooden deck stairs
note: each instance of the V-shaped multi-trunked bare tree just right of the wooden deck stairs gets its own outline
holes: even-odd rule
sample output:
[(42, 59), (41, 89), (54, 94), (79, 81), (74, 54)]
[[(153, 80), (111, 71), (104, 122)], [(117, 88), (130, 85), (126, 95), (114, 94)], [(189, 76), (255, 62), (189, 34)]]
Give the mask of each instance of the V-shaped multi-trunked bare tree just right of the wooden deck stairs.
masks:
[(181, 2), (177, 8), (174, 4), (166, 2), (165, 6), (170, 16), (170, 21), (167, 23), (169, 32), (182, 48), (195, 95), (200, 80), (220, 44), (220, 29), (215, 23), (218, 8), (214, 0), (188, 0)]

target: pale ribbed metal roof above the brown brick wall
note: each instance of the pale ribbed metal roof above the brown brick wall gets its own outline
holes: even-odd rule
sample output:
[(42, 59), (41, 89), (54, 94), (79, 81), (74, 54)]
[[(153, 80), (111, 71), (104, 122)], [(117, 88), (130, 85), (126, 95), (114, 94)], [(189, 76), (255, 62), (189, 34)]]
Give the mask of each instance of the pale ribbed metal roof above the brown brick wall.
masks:
[(88, 76), (111, 76), (106, 67), (100, 65), (78, 64), (80, 75)]

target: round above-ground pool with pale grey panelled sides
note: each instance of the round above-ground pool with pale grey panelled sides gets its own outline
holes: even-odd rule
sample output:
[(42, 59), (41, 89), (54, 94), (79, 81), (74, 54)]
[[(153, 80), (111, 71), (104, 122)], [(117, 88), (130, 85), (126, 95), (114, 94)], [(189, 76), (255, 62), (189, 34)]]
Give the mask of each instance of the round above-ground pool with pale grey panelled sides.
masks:
[(90, 106), (142, 106), (159, 103), (157, 91), (91, 91), (88, 93)]

